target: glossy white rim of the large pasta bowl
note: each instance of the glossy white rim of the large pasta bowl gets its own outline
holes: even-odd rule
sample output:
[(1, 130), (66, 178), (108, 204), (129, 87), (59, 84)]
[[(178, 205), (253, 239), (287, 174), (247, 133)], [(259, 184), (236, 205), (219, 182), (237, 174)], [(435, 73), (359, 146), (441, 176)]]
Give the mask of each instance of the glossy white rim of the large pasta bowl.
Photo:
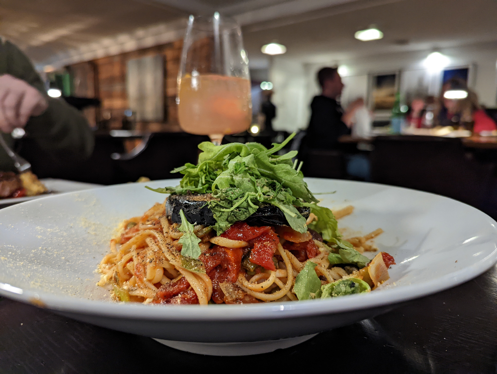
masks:
[[(152, 181), (151, 183), (163, 183), (166, 181), (178, 181), (178, 179), (164, 179)], [(84, 299), (72, 296), (57, 296), (46, 292), (37, 292), (29, 289), (22, 290), (15, 285), (4, 283), (1, 281), (0, 275), (0, 296), (14, 299), (16, 301), (31, 303), (35, 306), (45, 307), (61, 312), (85, 314), (101, 317), (119, 317), (133, 320), (151, 320), (151, 321), (228, 321), (228, 320), (260, 320), (260, 319), (275, 319), (275, 318), (292, 318), (300, 316), (315, 316), (326, 314), (339, 314), (348, 311), (363, 310), (367, 308), (382, 307), (387, 305), (395, 305), (401, 302), (419, 299), (429, 295), (439, 293), (441, 291), (456, 287), (464, 282), (478, 277), (483, 274), (497, 262), (497, 222), (484, 212), (471, 207), (457, 200), (436, 195), (424, 191), (414, 189), (383, 185), (371, 182), (345, 181), (328, 178), (305, 178), (306, 181), (333, 181), (341, 183), (353, 184), (370, 184), (392, 189), (402, 189), (414, 191), (419, 194), (437, 196), (440, 199), (452, 200), (458, 204), (465, 205), (478, 214), (485, 216), (488, 223), (494, 227), (494, 231), (490, 236), (494, 240), (494, 249), (485, 258), (480, 259), (476, 263), (459, 269), (455, 272), (445, 274), (439, 278), (421, 282), (417, 284), (405, 285), (399, 288), (382, 290), (378, 293), (369, 293), (367, 295), (349, 295), (347, 298), (331, 298), (320, 300), (302, 300), (299, 302), (285, 301), (278, 303), (260, 303), (260, 304), (245, 304), (245, 305), (209, 305), (201, 307), (201, 313), (198, 312), (198, 305), (143, 305), (143, 304), (125, 304), (103, 300)], [(128, 183), (112, 186), (96, 187), (93, 190), (104, 188), (112, 188), (129, 186)], [(57, 198), (61, 195), (79, 194), (89, 192), (88, 190), (68, 192), (64, 194), (45, 196), (44, 199)], [(19, 209), (19, 206), (33, 203), (27, 201), (15, 206), (7, 207), (2, 211), (11, 209)], [(363, 300), (357, 303), (357, 299)], [(220, 308), (223, 313), (219, 313)], [(251, 312), (247, 312), (250, 310)]]

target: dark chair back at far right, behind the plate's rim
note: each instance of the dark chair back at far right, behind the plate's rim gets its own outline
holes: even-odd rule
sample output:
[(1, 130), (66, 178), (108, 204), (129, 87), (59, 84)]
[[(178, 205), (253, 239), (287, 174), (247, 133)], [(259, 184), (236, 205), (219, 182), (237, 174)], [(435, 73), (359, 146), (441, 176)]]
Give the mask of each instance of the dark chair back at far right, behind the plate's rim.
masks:
[(432, 192), (487, 210), (494, 165), (473, 159), (460, 139), (383, 136), (373, 144), (373, 182)]

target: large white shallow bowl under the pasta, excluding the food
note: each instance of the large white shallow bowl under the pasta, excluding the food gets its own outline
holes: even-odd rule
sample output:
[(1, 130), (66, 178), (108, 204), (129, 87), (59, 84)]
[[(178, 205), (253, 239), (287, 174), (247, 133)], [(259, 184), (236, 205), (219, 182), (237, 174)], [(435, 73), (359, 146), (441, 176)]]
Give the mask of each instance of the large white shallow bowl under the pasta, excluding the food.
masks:
[[(351, 216), (339, 221), (349, 234), (378, 227), (385, 230), (376, 244), (392, 254), (397, 265), (390, 270), (390, 281), (378, 290), (334, 299), (251, 305), (112, 302), (108, 291), (95, 285), (99, 278), (95, 269), (108, 252), (113, 230), (121, 220), (142, 215), (165, 198), (133, 183), (0, 210), (0, 294), (96, 325), (165, 339), (165, 344), (183, 350), (247, 354), (287, 347), (305, 340), (306, 335), (454, 287), (482, 274), (497, 260), (496, 222), (470, 206), (378, 184), (307, 181), (314, 192), (336, 190), (332, 195), (319, 195), (323, 205), (355, 207)], [(295, 337), (300, 338), (288, 339)], [(255, 341), (265, 342), (240, 344)]]

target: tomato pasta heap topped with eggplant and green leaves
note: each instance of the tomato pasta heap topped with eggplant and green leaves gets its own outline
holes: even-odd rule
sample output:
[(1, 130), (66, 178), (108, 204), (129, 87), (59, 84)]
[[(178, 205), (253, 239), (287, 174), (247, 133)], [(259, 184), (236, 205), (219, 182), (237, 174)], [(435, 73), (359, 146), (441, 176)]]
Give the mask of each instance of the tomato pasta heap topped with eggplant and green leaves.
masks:
[(172, 171), (179, 186), (152, 189), (166, 201), (122, 223), (98, 285), (120, 301), (236, 304), (367, 293), (388, 280), (393, 257), (362, 254), (383, 231), (344, 240), (292, 162), (297, 151), (278, 155), (293, 136), (269, 150), (201, 143), (197, 165)]

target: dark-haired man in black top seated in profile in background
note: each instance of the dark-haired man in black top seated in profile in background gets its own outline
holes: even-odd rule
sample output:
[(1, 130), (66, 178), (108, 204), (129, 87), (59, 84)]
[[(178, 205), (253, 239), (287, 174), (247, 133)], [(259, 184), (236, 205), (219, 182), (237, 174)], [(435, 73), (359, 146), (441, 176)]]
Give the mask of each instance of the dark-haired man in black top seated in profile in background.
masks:
[(311, 121), (307, 129), (306, 146), (312, 149), (333, 149), (338, 138), (350, 134), (355, 110), (364, 105), (364, 100), (352, 102), (344, 112), (336, 98), (341, 94), (344, 84), (336, 68), (323, 68), (318, 72), (322, 89), (311, 103)]

